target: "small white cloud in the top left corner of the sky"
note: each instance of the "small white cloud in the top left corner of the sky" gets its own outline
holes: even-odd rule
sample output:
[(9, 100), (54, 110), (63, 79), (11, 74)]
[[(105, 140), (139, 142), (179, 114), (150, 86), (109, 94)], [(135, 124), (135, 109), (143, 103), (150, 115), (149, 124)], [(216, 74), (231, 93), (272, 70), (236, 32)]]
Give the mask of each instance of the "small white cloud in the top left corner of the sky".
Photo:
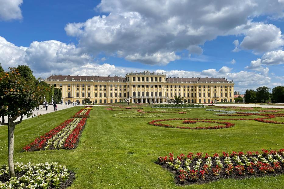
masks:
[(0, 21), (22, 19), (22, 3), (23, 0), (0, 0)]

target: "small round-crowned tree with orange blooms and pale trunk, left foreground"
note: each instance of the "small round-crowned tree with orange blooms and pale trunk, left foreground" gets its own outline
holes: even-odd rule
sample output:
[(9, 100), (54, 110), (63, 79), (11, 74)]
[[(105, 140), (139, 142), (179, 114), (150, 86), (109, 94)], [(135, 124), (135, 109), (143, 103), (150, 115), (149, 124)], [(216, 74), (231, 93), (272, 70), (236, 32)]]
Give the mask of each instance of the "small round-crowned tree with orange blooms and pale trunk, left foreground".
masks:
[[(8, 126), (8, 165), (9, 177), (15, 177), (14, 155), (14, 129), (22, 122), (23, 116), (30, 117), (33, 110), (43, 99), (44, 91), (49, 90), (42, 85), (27, 81), (19, 74), (16, 68), (10, 68), (7, 72), (0, 72), (0, 120), (1, 125)], [(8, 117), (5, 122), (5, 116)], [(20, 117), (20, 120), (15, 120)]]

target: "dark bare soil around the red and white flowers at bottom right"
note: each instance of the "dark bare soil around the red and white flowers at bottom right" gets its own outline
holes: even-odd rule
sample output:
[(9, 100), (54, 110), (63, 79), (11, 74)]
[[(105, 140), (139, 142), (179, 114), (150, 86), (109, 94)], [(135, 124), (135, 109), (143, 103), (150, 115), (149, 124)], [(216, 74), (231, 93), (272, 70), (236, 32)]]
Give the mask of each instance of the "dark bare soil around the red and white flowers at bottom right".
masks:
[[(204, 158), (203, 159), (203, 162), (201, 163), (200, 165), (200, 170), (202, 169), (202, 167), (205, 165), (205, 160)], [(192, 163), (189, 165), (189, 167), (191, 167), (191, 169), (193, 168), (193, 166), (196, 164), (196, 161), (198, 159), (195, 158), (194, 160), (192, 160)], [(177, 185), (189, 185), (189, 184), (204, 184), (204, 183), (208, 183), (208, 182), (212, 182), (212, 181), (216, 181), (216, 180), (220, 180), (220, 179), (228, 179), (228, 178), (232, 178), (232, 179), (244, 179), (244, 178), (250, 178), (250, 177), (264, 177), (264, 176), (277, 176), (277, 175), (280, 175), (280, 174), (284, 174), (284, 165), (283, 163), (280, 164), (281, 168), (279, 170), (275, 170), (274, 172), (267, 172), (267, 173), (263, 173), (261, 172), (258, 167), (253, 167), (254, 169), (254, 174), (250, 174), (247, 172), (247, 166), (244, 166), (246, 170), (244, 170), (243, 172), (245, 174), (237, 174), (236, 171), (233, 172), (233, 174), (231, 175), (228, 175), (225, 173), (225, 168), (227, 167), (226, 164), (223, 162), (224, 160), (224, 157), (220, 157), (220, 160), (221, 162), (224, 164), (224, 168), (222, 168), (222, 170), (220, 171), (219, 173), (219, 176), (215, 176), (213, 175), (213, 172), (212, 170), (208, 170), (208, 174), (204, 174), (205, 176), (205, 179), (203, 179), (202, 177), (199, 176), (199, 173), (198, 173), (198, 176), (199, 176), (199, 179), (197, 180), (192, 180), (192, 179), (189, 179), (187, 178), (183, 183), (180, 181), (180, 178), (178, 177), (179, 176), (179, 171), (175, 170), (173, 167), (170, 167), (167, 163), (158, 163), (158, 162), (155, 162), (156, 164), (162, 166), (163, 168), (169, 170), (171, 173), (173, 173), (175, 175), (174, 177), (174, 180), (175, 180), (175, 183)], [(232, 159), (231, 161), (233, 162), (233, 166), (236, 166), (236, 162), (234, 162)], [(182, 167), (184, 167), (184, 163), (182, 162), (181, 164)], [(212, 166), (211, 167), (215, 167), (216, 166), (216, 162), (215, 160), (212, 158)]]

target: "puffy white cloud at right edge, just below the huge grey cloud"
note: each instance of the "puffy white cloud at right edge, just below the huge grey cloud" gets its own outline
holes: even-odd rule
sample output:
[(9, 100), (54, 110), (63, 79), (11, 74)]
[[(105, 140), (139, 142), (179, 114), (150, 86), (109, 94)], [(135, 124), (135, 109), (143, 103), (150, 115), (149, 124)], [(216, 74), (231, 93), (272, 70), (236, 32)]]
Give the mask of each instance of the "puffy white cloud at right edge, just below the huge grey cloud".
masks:
[(279, 49), (284, 45), (281, 30), (273, 24), (257, 24), (248, 29), (245, 35), (240, 47), (253, 50), (254, 53)]

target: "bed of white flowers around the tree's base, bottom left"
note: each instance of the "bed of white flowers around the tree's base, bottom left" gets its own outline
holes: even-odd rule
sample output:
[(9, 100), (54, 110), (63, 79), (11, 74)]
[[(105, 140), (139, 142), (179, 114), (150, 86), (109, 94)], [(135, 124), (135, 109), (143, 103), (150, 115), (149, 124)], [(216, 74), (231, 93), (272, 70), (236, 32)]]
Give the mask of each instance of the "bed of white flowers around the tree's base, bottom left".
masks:
[(9, 179), (8, 166), (0, 169), (0, 188), (66, 188), (75, 174), (58, 163), (15, 163), (16, 177)]

